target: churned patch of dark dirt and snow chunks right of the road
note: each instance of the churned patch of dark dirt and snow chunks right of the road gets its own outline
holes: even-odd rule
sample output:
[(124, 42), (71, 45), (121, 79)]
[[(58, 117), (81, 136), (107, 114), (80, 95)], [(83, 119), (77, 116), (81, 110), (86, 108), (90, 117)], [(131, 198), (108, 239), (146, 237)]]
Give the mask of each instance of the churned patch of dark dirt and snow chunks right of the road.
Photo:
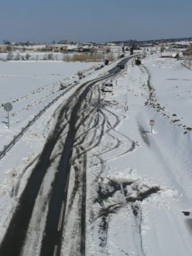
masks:
[(159, 186), (143, 184), (143, 182), (138, 179), (119, 180), (101, 177), (97, 190), (98, 197), (95, 199), (95, 204), (99, 203), (100, 205), (99, 216), (97, 216), (97, 218), (100, 218), (100, 246), (106, 246), (111, 214), (115, 214), (121, 207), (130, 204), (134, 216), (137, 216), (138, 212), (140, 212), (138, 202), (142, 202), (150, 195), (160, 190), (161, 188)]

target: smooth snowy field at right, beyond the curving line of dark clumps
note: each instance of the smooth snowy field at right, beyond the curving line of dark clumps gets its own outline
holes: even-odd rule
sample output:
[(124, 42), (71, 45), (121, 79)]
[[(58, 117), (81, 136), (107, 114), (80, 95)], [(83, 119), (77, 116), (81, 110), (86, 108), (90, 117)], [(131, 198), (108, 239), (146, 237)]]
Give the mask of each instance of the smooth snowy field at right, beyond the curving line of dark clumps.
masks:
[(151, 75), (154, 108), (159, 108), (162, 115), (170, 118), (170, 122), (182, 125), (184, 129), (190, 129), (192, 127), (191, 70), (181, 65), (180, 61), (159, 58), (158, 54), (149, 55), (143, 63)]

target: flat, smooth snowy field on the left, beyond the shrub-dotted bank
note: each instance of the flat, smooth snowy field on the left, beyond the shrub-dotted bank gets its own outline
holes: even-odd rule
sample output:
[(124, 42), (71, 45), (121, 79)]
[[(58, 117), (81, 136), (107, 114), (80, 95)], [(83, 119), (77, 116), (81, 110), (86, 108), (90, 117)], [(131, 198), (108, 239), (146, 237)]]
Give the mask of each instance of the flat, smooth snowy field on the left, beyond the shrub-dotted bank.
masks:
[(63, 61), (0, 61), (0, 101), (12, 100), (35, 92), (46, 85), (74, 76), (97, 63), (66, 63)]

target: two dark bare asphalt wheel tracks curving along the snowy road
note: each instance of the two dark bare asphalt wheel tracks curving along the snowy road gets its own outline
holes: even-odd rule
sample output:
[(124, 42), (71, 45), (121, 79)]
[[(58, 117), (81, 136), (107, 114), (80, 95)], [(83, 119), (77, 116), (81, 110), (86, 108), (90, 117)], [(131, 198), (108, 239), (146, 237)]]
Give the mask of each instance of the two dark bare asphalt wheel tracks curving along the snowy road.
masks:
[[(124, 58), (121, 63), (125, 64), (131, 58), (133, 57), (131, 56)], [(54, 145), (59, 140), (63, 129), (68, 125), (68, 132), (61, 153), (58, 172), (56, 172), (52, 182), (52, 192), (49, 200), (49, 212), (47, 214), (47, 221), (44, 231), (45, 236), (42, 240), (42, 247), (40, 251), (40, 256), (60, 255), (63, 219), (65, 216), (68, 180), (70, 175), (70, 159), (72, 157), (72, 150), (75, 142), (74, 138), (77, 131), (77, 113), (81, 108), (81, 102), (86, 97), (93, 84), (118, 74), (120, 70), (120, 67), (112, 68), (109, 70), (108, 75), (82, 84), (76, 90), (74, 95), (72, 95), (72, 97), (68, 99), (67, 103), (61, 108), (61, 111), (58, 115), (58, 120), (54, 127), (54, 132), (51, 133), (48, 140), (46, 141), (42, 153), (40, 154), (38, 163), (33, 169), (31, 177), (29, 177), (28, 184), (20, 196), (19, 204), (15, 209), (15, 213), (13, 214), (12, 220), (10, 221), (9, 227), (1, 243), (0, 255), (22, 255), (22, 247), (26, 239), (26, 232), (28, 230), (28, 225), (35, 205), (35, 200), (40, 191), (40, 186), (44, 180), (45, 173), (51, 165), (51, 154), (54, 149)], [(74, 100), (74, 104), (70, 105), (72, 100)], [(62, 125), (63, 113), (68, 111), (68, 108), (71, 107), (72, 109), (68, 124), (65, 122)], [(85, 179), (85, 177), (83, 179)], [(84, 205), (82, 207), (84, 207)], [(84, 233), (83, 228), (81, 228), (81, 233)]]

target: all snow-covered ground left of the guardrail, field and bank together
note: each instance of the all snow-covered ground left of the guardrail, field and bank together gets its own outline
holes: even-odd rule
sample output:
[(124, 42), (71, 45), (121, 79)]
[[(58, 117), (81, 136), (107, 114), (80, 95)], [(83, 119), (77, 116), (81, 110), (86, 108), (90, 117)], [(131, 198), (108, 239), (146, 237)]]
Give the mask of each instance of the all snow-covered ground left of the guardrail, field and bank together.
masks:
[[(98, 65), (63, 61), (0, 61), (0, 151), (40, 109), (63, 92), (59, 90), (61, 83), (67, 87), (75, 81), (78, 83), (78, 71), (87, 77)], [(11, 102), (13, 106), (11, 129), (7, 127), (5, 102)]]

